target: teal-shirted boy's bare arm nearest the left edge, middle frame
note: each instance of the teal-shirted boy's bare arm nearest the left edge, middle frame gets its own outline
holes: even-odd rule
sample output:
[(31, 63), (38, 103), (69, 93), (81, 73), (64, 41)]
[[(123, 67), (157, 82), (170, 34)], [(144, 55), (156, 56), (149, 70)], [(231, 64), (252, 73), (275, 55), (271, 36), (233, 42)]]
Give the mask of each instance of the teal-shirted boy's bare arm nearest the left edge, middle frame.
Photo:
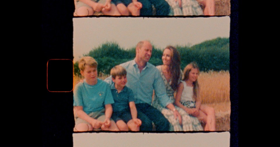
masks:
[(88, 114), (86, 114), (84, 111), (83, 111), (83, 106), (74, 106), (74, 112), (76, 113), (76, 115), (89, 122), (92, 126), (92, 128), (95, 128), (95, 129), (98, 129), (102, 126), (102, 122), (97, 120), (97, 119), (93, 119), (91, 118), (90, 116), (88, 116)]

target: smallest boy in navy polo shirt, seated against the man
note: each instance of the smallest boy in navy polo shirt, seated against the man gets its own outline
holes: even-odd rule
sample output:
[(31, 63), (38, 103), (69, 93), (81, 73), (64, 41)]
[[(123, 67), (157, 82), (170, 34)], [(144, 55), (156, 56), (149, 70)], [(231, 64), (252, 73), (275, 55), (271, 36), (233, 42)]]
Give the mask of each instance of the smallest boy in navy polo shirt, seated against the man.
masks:
[(111, 69), (113, 83), (111, 92), (115, 103), (112, 104), (112, 119), (116, 122), (120, 131), (139, 131), (142, 122), (137, 118), (135, 98), (131, 89), (125, 86), (127, 83), (126, 70), (120, 65)]

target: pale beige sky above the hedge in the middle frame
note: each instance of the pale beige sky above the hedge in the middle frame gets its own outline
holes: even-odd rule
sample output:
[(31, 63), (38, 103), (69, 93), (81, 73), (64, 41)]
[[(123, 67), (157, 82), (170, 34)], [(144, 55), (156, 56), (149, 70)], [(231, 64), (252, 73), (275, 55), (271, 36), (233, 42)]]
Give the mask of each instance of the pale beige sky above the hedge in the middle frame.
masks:
[(195, 45), (217, 37), (230, 36), (229, 16), (73, 18), (73, 25), (74, 62), (107, 41), (129, 49), (141, 40), (150, 40), (156, 48), (164, 49), (167, 45)]

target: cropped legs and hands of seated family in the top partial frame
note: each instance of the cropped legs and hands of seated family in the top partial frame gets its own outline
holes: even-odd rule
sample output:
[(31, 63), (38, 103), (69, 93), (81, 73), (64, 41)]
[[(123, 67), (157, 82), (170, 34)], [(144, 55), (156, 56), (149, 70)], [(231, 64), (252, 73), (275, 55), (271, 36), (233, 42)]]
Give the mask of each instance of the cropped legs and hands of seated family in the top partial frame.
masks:
[[(200, 3), (205, 6), (202, 10)], [(76, 15), (215, 15), (214, 0), (77, 0)], [(154, 7), (154, 9), (153, 9)]]

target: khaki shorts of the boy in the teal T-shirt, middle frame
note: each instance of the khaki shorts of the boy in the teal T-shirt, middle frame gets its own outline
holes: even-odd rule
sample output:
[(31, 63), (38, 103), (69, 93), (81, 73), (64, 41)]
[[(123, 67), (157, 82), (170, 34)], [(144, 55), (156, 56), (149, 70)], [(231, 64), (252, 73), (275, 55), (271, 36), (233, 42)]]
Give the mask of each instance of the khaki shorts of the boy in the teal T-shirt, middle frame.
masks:
[[(100, 111), (91, 112), (91, 113), (88, 114), (88, 116), (90, 116), (93, 119), (97, 119), (99, 121), (104, 122), (105, 121), (105, 109), (102, 109)], [(111, 121), (112, 121), (112, 119), (111, 119)], [(75, 116), (75, 127), (74, 128), (76, 128), (76, 126), (80, 123), (86, 123), (86, 124), (91, 125), (89, 122), (79, 118), (78, 116)], [(101, 130), (101, 129), (99, 128), (99, 129), (93, 129), (93, 130), (98, 131), (98, 130)]]

